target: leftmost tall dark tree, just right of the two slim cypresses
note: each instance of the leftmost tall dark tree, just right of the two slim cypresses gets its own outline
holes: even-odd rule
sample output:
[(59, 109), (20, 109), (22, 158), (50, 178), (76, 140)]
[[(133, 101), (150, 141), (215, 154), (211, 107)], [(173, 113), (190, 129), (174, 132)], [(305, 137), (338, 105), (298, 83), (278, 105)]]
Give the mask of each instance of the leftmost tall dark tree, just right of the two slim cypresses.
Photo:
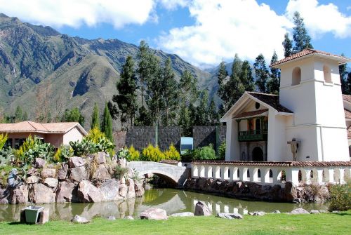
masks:
[[(136, 102), (136, 76), (134, 70), (134, 61), (130, 55), (128, 55), (126, 63), (122, 67), (121, 79), (117, 82), (118, 95), (114, 95), (112, 98), (113, 102), (116, 102), (119, 110), (121, 110), (121, 122), (128, 122), (129, 126), (133, 126), (135, 118), (135, 112), (138, 109)], [(107, 105), (108, 107), (108, 105)]]

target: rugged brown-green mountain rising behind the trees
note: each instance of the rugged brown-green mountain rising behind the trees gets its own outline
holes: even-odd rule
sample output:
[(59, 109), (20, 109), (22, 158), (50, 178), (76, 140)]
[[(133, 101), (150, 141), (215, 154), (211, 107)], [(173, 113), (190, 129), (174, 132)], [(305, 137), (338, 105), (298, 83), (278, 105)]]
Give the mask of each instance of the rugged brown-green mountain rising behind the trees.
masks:
[[(153, 51), (161, 63), (171, 58), (177, 79), (187, 69), (200, 89), (216, 93), (212, 74), (178, 55)], [(20, 105), (33, 118), (38, 108), (55, 117), (79, 107), (88, 127), (94, 103), (102, 109), (112, 99), (127, 55), (136, 58), (137, 52), (138, 46), (118, 39), (71, 37), (0, 13), (0, 109), (11, 113)]]

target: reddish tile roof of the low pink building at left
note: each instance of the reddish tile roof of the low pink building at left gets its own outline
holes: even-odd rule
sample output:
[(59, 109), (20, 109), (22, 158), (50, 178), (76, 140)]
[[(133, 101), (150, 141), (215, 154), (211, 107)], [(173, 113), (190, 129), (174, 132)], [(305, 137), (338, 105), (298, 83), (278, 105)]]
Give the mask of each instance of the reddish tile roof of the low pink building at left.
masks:
[(0, 133), (67, 133), (76, 126), (86, 135), (86, 130), (77, 122), (36, 123), (34, 121), (21, 121), (19, 123), (0, 123)]

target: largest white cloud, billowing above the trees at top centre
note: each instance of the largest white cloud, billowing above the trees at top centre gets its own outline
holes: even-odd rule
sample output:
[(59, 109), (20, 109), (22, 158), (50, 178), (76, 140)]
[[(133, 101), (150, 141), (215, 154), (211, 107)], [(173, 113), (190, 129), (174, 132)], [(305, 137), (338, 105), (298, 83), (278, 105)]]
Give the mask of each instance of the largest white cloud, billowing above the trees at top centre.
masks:
[(171, 29), (159, 37), (158, 46), (201, 67), (232, 60), (254, 60), (274, 50), (283, 55), (282, 41), (292, 23), (270, 6), (254, 0), (194, 0), (189, 5), (195, 25)]

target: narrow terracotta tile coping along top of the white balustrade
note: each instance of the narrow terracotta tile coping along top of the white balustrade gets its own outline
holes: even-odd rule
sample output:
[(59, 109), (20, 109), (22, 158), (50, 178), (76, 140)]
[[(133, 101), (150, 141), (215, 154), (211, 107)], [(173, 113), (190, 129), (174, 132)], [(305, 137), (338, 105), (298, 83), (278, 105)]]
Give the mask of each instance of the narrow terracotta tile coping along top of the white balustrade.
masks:
[(192, 161), (193, 165), (230, 166), (351, 166), (351, 161)]

